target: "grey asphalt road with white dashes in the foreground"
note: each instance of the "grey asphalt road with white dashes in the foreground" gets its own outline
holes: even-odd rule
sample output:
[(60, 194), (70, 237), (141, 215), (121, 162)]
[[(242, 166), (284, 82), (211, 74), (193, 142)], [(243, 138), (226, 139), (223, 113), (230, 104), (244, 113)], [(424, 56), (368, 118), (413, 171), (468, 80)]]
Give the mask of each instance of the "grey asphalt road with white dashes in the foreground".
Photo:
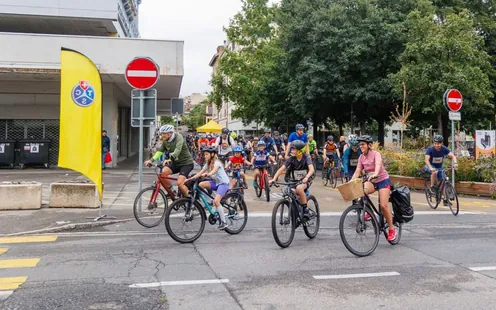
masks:
[(298, 229), (286, 249), (274, 242), (270, 217), (253, 215), (239, 235), (207, 224), (187, 245), (163, 224), (136, 222), (0, 239), (0, 289), (15, 285), (7, 277), (22, 282), (0, 292), (0, 308), (496, 308), (496, 215), (420, 214), (399, 245), (381, 236), (365, 258), (343, 246), (332, 213), (315, 239)]

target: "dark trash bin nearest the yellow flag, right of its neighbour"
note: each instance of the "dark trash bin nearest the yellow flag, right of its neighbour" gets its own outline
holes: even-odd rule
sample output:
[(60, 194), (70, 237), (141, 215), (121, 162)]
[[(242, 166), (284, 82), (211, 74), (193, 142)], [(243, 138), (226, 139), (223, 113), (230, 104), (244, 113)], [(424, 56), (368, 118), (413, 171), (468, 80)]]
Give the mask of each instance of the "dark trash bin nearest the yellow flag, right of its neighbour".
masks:
[(43, 165), (45, 168), (48, 168), (50, 140), (18, 140), (17, 145), (19, 146), (19, 152), (21, 155), (21, 169), (24, 168), (24, 165)]

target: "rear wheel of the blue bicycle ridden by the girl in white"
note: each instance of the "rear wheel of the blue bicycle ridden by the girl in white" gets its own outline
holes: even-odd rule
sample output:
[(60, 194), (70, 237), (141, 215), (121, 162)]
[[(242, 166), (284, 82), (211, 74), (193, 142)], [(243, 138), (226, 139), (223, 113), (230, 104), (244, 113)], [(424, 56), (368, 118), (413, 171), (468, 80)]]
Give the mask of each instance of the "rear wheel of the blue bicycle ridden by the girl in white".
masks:
[(225, 231), (231, 235), (239, 234), (248, 221), (248, 208), (243, 196), (238, 193), (229, 193), (222, 198), (222, 207), (229, 226)]

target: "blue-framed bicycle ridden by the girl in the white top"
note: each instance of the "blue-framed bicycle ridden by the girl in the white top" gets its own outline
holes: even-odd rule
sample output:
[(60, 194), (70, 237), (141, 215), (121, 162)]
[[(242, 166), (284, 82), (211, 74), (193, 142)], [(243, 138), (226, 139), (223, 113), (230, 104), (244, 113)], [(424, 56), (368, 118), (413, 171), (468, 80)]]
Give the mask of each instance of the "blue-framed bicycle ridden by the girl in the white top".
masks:
[[(217, 211), (214, 212), (212, 209), (214, 200), (212, 192), (201, 188), (199, 185), (200, 182), (209, 180), (211, 179), (198, 178), (187, 182), (190, 187), (190, 197), (177, 199), (167, 208), (164, 220), (165, 228), (167, 229), (167, 233), (175, 241), (179, 243), (192, 243), (198, 239), (205, 229), (207, 211), (209, 213), (208, 222), (210, 225), (220, 223), (219, 213)], [(245, 228), (248, 220), (248, 208), (246, 207), (243, 195), (239, 192), (228, 192), (222, 197), (221, 206), (224, 208), (226, 222), (229, 225), (225, 231), (231, 235), (240, 233)], [(190, 233), (192, 237), (187, 237), (188, 233), (185, 232), (184, 238), (182, 238), (173, 230), (171, 225), (172, 220), (179, 220), (183, 228), (185, 226), (190, 227), (194, 220), (199, 220), (200, 227), (194, 230), (193, 233)], [(240, 226), (237, 229), (233, 228), (235, 227), (234, 224), (240, 221)]]

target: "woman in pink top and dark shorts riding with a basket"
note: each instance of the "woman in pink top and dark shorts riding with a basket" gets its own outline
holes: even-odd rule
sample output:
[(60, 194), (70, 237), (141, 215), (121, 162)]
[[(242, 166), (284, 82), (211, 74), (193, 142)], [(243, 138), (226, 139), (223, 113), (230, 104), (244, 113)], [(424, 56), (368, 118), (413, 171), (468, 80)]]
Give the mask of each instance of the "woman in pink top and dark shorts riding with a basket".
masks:
[[(384, 169), (381, 153), (372, 149), (372, 137), (362, 136), (358, 137), (357, 140), (362, 155), (358, 158), (357, 168), (351, 179), (357, 179), (361, 171), (364, 170), (367, 175), (367, 182), (364, 186), (365, 193), (370, 195), (379, 191), (379, 205), (389, 227), (387, 239), (393, 241), (396, 239), (396, 230), (393, 226), (393, 214), (389, 210), (389, 194), (392, 187), (389, 174)], [(365, 214), (365, 220), (370, 220), (370, 214)]]

